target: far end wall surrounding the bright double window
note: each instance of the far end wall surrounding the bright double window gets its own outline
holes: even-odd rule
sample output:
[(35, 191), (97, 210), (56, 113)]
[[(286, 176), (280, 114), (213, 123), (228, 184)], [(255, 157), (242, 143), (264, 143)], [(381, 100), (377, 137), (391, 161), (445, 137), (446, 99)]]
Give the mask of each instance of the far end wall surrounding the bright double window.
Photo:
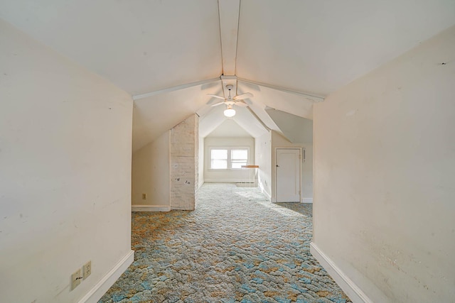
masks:
[(252, 137), (205, 137), (204, 140), (205, 182), (248, 182), (249, 170), (210, 170), (210, 147), (246, 147), (250, 149), (250, 162), (255, 164), (255, 138)]

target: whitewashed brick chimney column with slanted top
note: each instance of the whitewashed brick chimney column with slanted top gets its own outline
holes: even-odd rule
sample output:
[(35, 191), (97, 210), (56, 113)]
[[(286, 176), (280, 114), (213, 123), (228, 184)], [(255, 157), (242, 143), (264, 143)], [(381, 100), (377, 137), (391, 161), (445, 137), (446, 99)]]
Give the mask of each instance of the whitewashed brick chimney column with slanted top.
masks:
[(198, 126), (194, 114), (171, 129), (171, 209), (193, 210), (196, 205)]

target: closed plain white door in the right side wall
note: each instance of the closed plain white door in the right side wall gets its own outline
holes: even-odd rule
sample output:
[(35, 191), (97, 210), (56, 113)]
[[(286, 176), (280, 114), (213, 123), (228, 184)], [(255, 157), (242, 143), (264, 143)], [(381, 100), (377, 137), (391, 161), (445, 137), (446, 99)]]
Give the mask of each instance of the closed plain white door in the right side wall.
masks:
[(300, 149), (277, 148), (277, 202), (300, 202)]

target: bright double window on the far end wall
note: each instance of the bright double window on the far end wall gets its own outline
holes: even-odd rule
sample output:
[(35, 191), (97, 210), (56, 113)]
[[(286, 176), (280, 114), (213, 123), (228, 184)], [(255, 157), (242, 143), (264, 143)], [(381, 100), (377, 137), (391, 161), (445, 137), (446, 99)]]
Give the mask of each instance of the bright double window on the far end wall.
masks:
[(210, 170), (237, 170), (248, 164), (248, 148), (210, 148)]

